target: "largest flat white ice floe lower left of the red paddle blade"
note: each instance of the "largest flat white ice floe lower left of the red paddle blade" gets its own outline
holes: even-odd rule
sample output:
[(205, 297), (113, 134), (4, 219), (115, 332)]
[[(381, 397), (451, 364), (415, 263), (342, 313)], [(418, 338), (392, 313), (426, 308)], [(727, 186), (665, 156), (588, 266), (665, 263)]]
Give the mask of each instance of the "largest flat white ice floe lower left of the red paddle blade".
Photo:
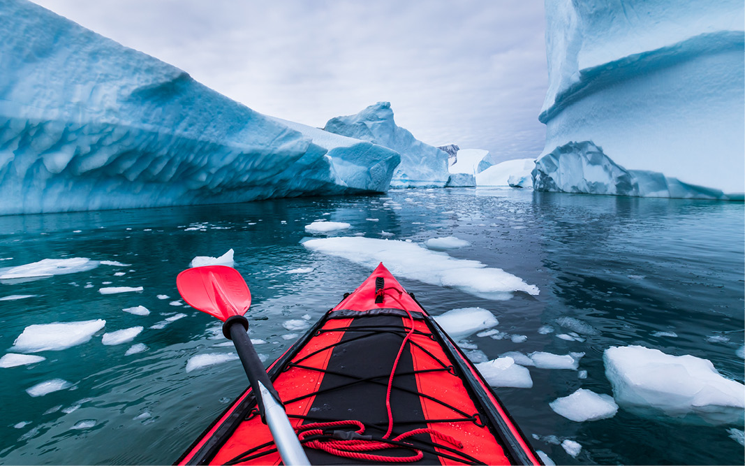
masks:
[(89, 341), (94, 333), (104, 328), (104, 325), (106, 321), (102, 319), (29, 325), (16, 341), (13, 341), (13, 350), (23, 353), (65, 350)]

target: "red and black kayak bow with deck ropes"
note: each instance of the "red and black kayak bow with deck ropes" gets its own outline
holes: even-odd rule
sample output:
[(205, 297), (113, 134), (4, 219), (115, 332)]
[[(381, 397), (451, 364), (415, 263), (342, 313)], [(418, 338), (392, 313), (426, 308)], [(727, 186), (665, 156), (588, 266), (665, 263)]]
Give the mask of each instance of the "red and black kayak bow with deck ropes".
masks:
[[(382, 264), (268, 369), (313, 465), (540, 465), (484, 377)], [(248, 388), (177, 465), (280, 465)]]

